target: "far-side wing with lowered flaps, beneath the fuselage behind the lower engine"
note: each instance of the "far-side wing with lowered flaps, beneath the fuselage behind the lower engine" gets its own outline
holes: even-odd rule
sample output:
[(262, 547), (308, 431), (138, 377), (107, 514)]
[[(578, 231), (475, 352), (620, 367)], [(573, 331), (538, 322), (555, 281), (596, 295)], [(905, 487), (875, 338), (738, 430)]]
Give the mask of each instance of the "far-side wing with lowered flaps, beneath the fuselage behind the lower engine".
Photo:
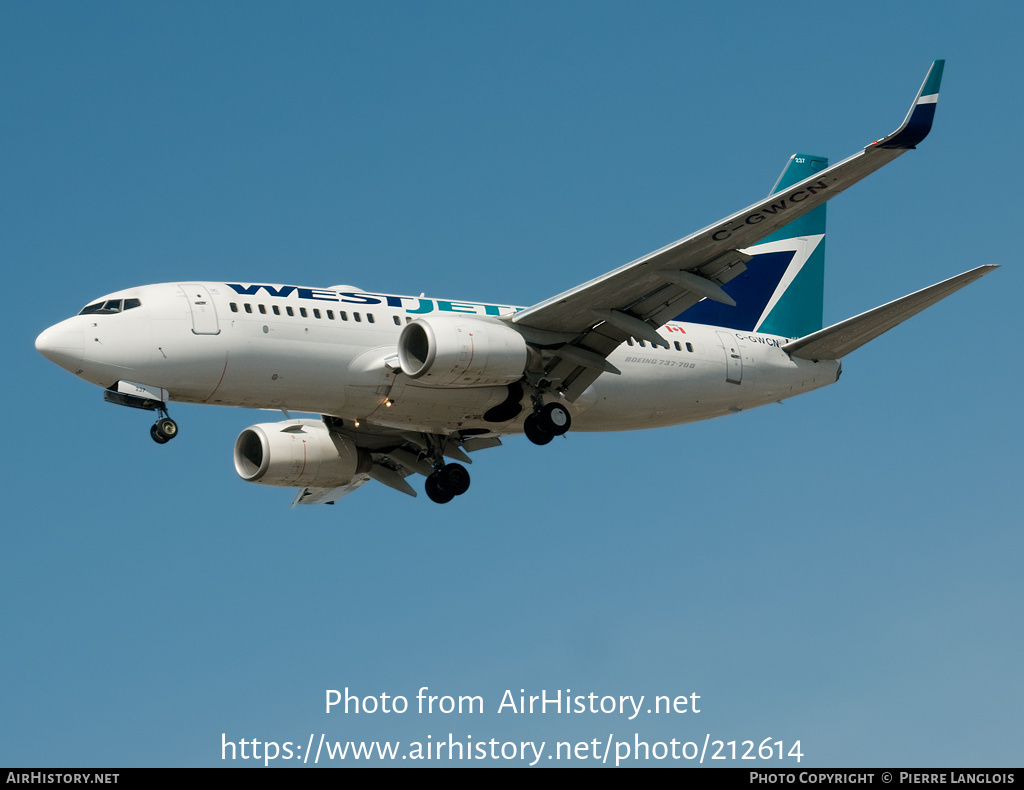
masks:
[(406, 477), (414, 473), (426, 477), (433, 472), (433, 466), (426, 460), (428, 451), (433, 447), (439, 447), (446, 458), (471, 464), (473, 461), (466, 452), (472, 453), (488, 447), (499, 447), (502, 444), (497, 438), (441, 436), (366, 424), (356, 429), (351, 427), (351, 423), (346, 424), (337, 417), (324, 415), (323, 419), (329, 430), (343, 433), (352, 440), (356, 447), (370, 453), (373, 464), (367, 471), (356, 474), (344, 486), (299, 489), (292, 501), (292, 507), (334, 504), (371, 481), (377, 481), (395, 491), (415, 497), (416, 490), (406, 482)]

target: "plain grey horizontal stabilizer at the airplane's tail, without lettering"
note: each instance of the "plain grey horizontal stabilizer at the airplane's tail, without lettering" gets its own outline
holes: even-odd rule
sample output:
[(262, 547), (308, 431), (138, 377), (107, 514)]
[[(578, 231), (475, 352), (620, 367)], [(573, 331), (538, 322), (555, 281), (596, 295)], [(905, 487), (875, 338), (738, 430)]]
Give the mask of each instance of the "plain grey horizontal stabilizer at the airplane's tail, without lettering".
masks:
[(998, 266), (989, 264), (972, 268), (963, 275), (793, 340), (783, 345), (782, 350), (801, 360), (840, 360), (994, 268)]

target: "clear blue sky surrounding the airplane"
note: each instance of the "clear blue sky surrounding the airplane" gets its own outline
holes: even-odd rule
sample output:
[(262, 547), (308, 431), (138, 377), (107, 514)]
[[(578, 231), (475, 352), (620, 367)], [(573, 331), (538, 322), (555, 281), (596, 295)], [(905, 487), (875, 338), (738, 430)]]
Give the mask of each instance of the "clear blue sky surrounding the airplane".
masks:
[[(611, 733), (1019, 765), (1022, 23), (1013, 3), (5, 3), (0, 764)], [(33, 348), (154, 282), (530, 304), (749, 205), (796, 151), (892, 131), (937, 57), (932, 135), (830, 204), (825, 322), (1004, 265), (781, 406), (511, 439), (444, 507), (367, 486), (292, 510), (231, 465), (265, 414), (179, 405), (158, 447)], [(324, 712), (328, 689), (424, 685), (486, 710)], [(498, 714), (520, 689), (702, 707)]]

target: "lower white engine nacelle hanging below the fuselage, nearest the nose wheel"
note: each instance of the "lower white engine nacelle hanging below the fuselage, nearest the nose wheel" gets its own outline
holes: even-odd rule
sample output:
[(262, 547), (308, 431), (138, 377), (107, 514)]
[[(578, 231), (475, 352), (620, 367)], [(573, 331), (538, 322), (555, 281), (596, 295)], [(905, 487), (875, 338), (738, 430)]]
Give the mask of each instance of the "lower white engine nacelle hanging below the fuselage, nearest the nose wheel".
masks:
[(372, 465), (366, 450), (316, 420), (263, 422), (234, 441), (239, 476), (263, 486), (334, 488)]

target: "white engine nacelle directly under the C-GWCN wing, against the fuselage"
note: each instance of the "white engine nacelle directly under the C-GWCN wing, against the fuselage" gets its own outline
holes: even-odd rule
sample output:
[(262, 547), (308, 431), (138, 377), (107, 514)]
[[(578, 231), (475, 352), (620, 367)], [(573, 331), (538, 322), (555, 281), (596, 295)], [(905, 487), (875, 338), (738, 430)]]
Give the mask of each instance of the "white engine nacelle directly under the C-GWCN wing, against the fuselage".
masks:
[(401, 371), (428, 386), (493, 386), (522, 378), (530, 349), (500, 321), (417, 319), (398, 337)]

